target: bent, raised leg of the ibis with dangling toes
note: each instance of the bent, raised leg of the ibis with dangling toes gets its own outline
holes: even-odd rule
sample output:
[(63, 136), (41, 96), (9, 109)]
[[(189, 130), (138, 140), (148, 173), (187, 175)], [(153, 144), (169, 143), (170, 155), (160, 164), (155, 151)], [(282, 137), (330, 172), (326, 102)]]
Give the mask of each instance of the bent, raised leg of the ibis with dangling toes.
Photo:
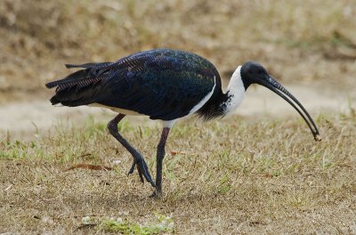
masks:
[[(137, 166), (137, 171), (139, 172), (141, 181), (143, 181), (143, 177), (146, 179), (147, 182), (150, 182), (150, 184), (153, 187), (156, 187), (155, 183), (152, 181), (152, 178), (150, 176), (149, 168), (147, 167), (147, 164), (145, 160), (143, 159), (142, 155), (140, 152), (134, 149), (133, 146), (129, 142), (127, 142), (124, 137), (118, 133), (117, 130), (117, 124), (119, 121), (121, 121), (122, 118), (124, 118), (124, 114), (118, 114), (116, 118), (112, 119), (108, 123), (108, 129), (109, 133), (117, 139), (118, 142), (120, 142), (126, 150), (128, 150), (131, 155), (134, 157), (134, 163), (133, 166), (131, 166), (130, 171), (128, 174), (133, 174), (134, 173), (134, 166)], [(143, 175), (143, 176), (142, 176)]]

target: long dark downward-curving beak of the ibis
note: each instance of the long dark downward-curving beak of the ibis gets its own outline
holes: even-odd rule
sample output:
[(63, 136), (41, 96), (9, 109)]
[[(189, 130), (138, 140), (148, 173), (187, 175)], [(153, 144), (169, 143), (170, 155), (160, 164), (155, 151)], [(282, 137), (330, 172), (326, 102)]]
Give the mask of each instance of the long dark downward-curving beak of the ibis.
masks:
[[(317, 142), (321, 141), (320, 133), (318, 127), (315, 125), (309, 113), (304, 109), (303, 105), (295, 99), (295, 97), (287, 91), (279, 82), (276, 81), (273, 77), (269, 76), (266, 80), (258, 80), (257, 84), (263, 85), (270, 89), (272, 92), (277, 93), (280, 97), (282, 97), (285, 101), (287, 101), (290, 105), (295, 108), (295, 110), (302, 116), (306, 124), (312, 131), (312, 135), (314, 136), (314, 140)], [(306, 117), (305, 117), (306, 116)]]

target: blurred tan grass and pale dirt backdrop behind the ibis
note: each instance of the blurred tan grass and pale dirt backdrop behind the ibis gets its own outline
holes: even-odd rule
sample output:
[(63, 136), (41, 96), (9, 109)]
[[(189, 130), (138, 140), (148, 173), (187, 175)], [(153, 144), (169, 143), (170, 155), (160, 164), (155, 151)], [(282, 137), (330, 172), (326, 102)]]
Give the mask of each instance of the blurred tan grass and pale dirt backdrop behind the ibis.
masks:
[[(0, 35), (3, 131), (51, 126), (69, 112), (51, 107), (44, 88), (69, 73), (64, 63), (157, 47), (206, 57), (224, 85), (239, 64), (260, 61), (312, 112), (355, 107), (355, 0), (1, 0)], [(238, 113), (279, 111), (274, 94), (251, 90)]]

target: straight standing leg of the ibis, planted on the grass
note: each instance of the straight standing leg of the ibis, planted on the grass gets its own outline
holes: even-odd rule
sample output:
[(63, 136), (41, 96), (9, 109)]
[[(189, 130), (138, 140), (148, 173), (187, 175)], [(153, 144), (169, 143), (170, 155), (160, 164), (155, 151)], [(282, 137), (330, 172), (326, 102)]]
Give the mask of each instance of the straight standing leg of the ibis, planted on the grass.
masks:
[(169, 134), (169, 127), (164, 127), (162, 130), (161, 138), (157, 146), (157, 173), (156, 173), (156, 191), (152, 197), (158, 197), (162, 194), (162, 163), (166, 154), (166, 140)]

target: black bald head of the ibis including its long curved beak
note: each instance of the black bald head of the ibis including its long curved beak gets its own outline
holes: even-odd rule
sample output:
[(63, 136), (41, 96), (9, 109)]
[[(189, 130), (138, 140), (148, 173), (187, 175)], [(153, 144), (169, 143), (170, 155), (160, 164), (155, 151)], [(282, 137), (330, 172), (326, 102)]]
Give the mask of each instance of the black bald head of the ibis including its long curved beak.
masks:
[(303, 105), (295, 99), (295, 97), (287, 91), (279, 82), (276, 81), (263, 66), (255, 61), (247, 61), (240, 69), (240, 75), (245, 89), (251, 84), (263, 85), (272, 92), (277, 93), (285, 101), (295, 108), (295, 110), (302, 116), (306, 124), (312, 131), (315, 141), (320, 141), (320, 134), (318, 127), (314, 124), (309, 113), (304, 109)]

